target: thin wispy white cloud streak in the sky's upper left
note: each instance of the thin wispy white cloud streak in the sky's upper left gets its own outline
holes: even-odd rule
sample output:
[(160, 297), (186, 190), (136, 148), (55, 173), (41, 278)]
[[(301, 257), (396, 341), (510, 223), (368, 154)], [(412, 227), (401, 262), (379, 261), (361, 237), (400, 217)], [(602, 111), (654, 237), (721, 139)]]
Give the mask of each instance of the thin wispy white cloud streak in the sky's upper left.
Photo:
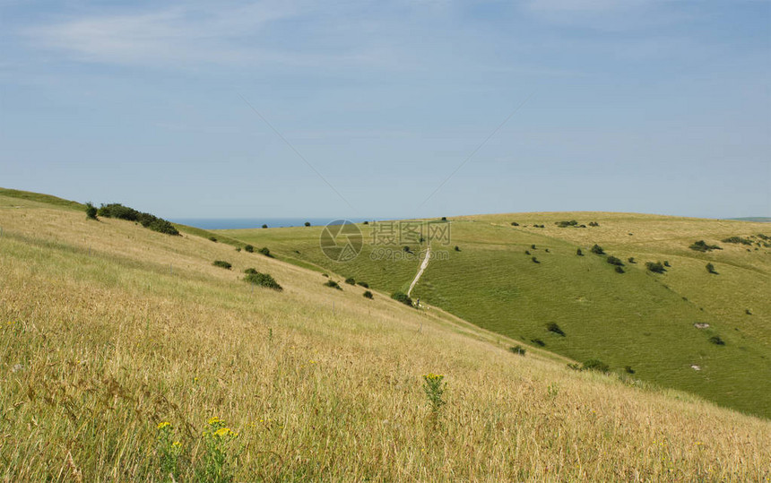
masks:
[(32, 47), (81, 62), (113, 65), (308, 65), (321, 58), (332, 62), (371, 58), (368, 52), (353, 48), (308, 54), (271, 41), (268, 30), (274, 24), (301, 20), (315, 10), (308, 4), (275, 1), (192, 4), (69, 18), (21, 33)]

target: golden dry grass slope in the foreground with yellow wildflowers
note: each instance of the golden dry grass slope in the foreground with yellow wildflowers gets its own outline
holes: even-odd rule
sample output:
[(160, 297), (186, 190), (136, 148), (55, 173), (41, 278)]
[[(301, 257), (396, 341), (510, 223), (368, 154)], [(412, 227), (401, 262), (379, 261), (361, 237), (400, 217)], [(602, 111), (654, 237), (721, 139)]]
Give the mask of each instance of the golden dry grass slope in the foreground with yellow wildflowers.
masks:
[[(771, 479), (767, 419), (517, 356), (438, 309), (16, 197), (0, 227), (0, 480)], [(238, 436), (204, 436), (215, 417)]]

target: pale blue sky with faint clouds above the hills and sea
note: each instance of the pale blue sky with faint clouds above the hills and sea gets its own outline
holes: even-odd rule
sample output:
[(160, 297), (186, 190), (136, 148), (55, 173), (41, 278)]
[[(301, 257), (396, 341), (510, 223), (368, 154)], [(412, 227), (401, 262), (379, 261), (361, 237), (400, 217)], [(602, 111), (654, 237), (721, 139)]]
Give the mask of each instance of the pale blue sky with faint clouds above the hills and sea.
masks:
[(771, 3), (0, 0), (0, 186), (168, 218), (771, 216)]

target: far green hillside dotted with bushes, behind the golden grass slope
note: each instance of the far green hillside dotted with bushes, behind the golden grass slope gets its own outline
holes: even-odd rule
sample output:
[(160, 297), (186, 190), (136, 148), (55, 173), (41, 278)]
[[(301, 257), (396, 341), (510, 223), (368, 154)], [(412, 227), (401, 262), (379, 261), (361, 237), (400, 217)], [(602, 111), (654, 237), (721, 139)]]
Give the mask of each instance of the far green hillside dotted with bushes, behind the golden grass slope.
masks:
[[(577, 220), (586, 228), (559, 228), (555, 223), (561, 220)], [(512, 226), (513, 221), (519, 226)], [(588, 226), (590, 221), (599, 226)], [(771, 417), (767, 225), (589, 212), (472, 216), (450, 222), (451, 242), (432, 244), (435, 254), (445, 251), (447, 259), (429, 263), (413, 298), (528, 344), (542, 343), (568, 358), (598, 358), (619, 373), (634, 371), (636, 378)], [(325, 257), (318, 245), (320, 228), (221, 233), (386, 292), (406, 290), (420, 256), (372, 260), (382, 247), (372, 244), (371, 225), (360, 228), (366, 243), (350, 263)], [(729, 237), (750, 245), (721, 241)], [(689, 248), (699, 240), (722, 249)], [(591, 253), (594, 244), (605, 254)], [(410, 248), (419, 254), (418, 244)], [(576, 254), (578, 248), (583, 256)], [(609, 255), (619, 258), (624, 273), (607, 262)], [(647, 262), (670, 266), (654, 273), (646, 270)], [(707, 272), (706, 263), (713, 263), (717, 274)], [(549, 323), (557, 323), (565, 335), (547, 330)]]

